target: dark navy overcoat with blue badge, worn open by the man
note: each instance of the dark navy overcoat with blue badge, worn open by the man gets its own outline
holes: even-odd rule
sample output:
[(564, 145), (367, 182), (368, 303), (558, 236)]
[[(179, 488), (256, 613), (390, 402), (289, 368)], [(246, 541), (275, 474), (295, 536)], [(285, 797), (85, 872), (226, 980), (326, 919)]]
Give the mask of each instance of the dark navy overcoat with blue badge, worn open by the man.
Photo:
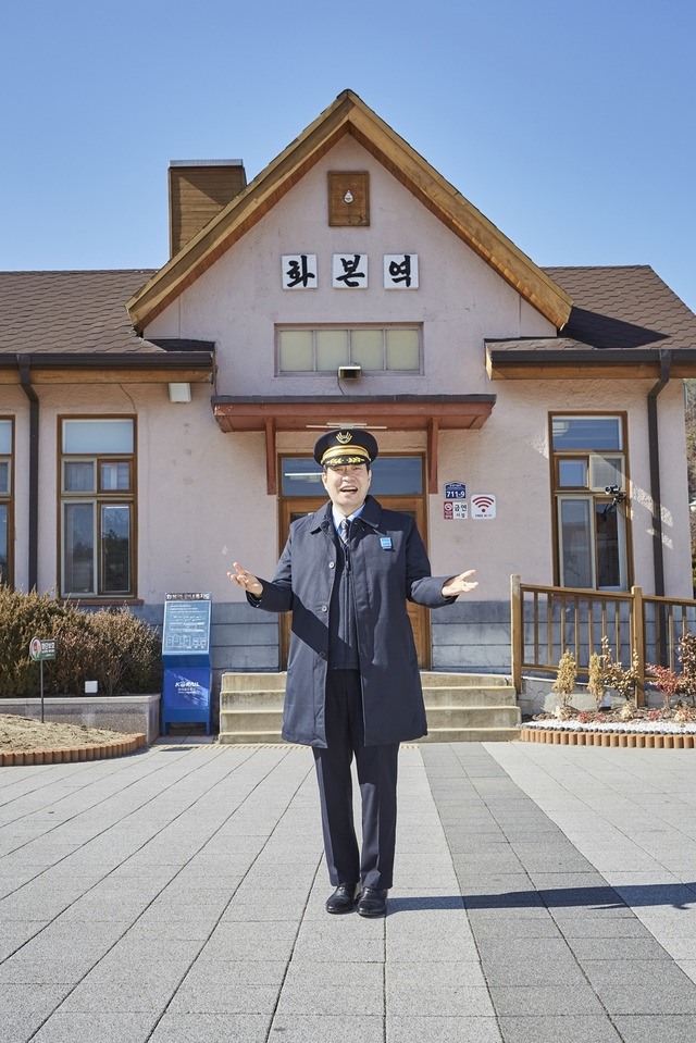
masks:
[[(413, 519), (372, 496), (352, 522), (350, 546), (365, 745), (419, 738), (427, 724), (406, 601), (439, 608), (456, 598), (443, 597), (447, 576), (431, 575)], [(293, 522), (273, 580), (260, 580), (260, 598), (248, 596), (269, 612), (293, 612), (283, 712), (290, 743), (326, 746), (328, 614), (340, 552), (328, 502)]]

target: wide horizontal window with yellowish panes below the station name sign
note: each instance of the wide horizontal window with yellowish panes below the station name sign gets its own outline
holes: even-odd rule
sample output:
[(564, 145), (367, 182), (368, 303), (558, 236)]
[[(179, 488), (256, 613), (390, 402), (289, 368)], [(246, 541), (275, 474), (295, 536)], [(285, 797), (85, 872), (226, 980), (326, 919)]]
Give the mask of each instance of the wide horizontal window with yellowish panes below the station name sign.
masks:
[(352, 363), (364, 372), (421, 372), (420, 325), (390, 326), (278, 326), (277, 373), (336, 374)]

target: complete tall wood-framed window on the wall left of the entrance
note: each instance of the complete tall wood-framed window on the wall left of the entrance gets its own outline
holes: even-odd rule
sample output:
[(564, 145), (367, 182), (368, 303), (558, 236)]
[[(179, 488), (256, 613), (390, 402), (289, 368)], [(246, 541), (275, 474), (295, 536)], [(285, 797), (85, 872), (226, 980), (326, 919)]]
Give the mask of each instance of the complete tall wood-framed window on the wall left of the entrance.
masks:
[(135, 421), (62, 420), (61, 594), (135, 594)]

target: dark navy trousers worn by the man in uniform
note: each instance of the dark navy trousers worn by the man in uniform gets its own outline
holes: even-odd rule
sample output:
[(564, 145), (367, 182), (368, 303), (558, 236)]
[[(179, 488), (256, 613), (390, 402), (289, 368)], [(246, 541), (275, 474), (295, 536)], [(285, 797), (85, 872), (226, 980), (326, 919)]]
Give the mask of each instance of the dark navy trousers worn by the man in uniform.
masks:
[[(362, 691), (357, 670), (330, 670), (326, 740), (314, 746), (328, 879), (387, 891), (396, 844), (399, 744), (365, 746)], [(351, 763), (356, 758), (362, 800), (362, 852), (353, 821)]]

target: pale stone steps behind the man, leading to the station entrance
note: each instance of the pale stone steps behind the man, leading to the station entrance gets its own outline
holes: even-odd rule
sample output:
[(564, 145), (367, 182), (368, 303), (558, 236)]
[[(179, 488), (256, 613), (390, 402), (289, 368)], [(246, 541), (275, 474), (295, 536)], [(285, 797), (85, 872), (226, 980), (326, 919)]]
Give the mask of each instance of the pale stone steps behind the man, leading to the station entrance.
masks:
[[(223, 673), (221, 744), (279, 743), (285, 673)], [(520, 737), (510, 679), (422, 672), (428, 734), (421, 743), (495, 743)]]

